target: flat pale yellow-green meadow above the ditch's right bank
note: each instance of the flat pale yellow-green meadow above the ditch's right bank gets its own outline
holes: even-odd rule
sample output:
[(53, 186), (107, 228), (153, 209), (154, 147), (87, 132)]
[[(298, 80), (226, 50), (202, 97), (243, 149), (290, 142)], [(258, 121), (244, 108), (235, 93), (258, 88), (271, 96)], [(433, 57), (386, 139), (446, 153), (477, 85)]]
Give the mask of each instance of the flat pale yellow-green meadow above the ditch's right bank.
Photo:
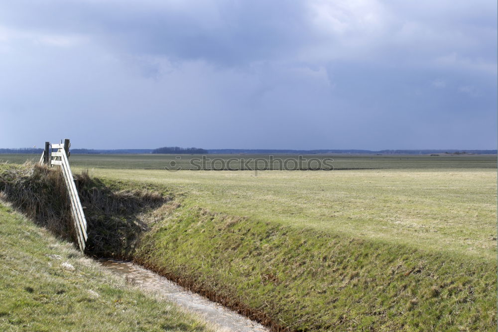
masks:
[(496, 261), (496, 169), (91, 173), (108, 183), (162, 186), (191, 204), (250, 220)]

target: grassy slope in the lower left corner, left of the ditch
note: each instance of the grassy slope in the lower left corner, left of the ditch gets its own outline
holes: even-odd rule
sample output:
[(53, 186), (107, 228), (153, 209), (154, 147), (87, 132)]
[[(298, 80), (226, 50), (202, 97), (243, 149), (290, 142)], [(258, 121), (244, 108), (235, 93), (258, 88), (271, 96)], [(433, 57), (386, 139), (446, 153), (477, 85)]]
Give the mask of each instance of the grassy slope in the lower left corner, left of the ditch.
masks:
[(207, 330), (1, 204), (0, 248), (1, 331)]

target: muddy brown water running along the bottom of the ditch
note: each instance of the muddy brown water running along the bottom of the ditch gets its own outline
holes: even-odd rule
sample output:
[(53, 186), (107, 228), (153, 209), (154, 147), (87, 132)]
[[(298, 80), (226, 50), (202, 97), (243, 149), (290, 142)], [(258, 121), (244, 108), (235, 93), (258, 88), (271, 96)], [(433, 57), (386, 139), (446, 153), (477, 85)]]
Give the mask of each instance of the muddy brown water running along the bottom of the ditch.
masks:
[(158, 274), (128, 262), (101, 260), (100, 264), (112, 272), (126, 277), (136, 286), (157, 291), (166, 299), (200, 314), (210, 323), (225, 331), (269, 331), (262, 325), (253, 322), (236, 312), (229, 310), (205, 297), (191, 293)]

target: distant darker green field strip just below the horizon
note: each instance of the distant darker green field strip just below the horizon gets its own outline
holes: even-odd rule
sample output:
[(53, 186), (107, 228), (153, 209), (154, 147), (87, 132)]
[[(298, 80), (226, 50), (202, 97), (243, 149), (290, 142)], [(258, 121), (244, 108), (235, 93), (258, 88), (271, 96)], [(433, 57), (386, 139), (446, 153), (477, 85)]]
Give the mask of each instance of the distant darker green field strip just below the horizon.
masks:
[[(177, 159), (176, 157), (180, 157)], [(274, 155), (274, 159), (286, 160), (296, 159), (296, 155)], [(82, 168), (136, 168), (136, 169), (165, 169), (170, 167), (170, 162), (175, 162), (182, 169), (195, 168), (190, 161), (192, 159), (202, 159), (201, 155), (72, 155), (71, 165)], [(230, 159), (248, 161), (250, 159), (269, 160), (268, 155), (206, 155), (209, 158), (207, 168), (220, 168), (221, 161)], [(377, 169), (377, 168), (496, 168), (497, 157), (494, 155), (440, 155), (439, 157), (417, 156), (417, 155), (304, 155), (303, 158), (317, 158), (323, 160), (333, 159), (332, 165), (335, 169)], [(371, 159), (373, 158), (373, 159)], [(0, 154), (0, 161), (7, 161), (14, 164), (22, 164), (26, 160), (37, 162), (39, 155), (24, 154)], [(218, 162), (216, 161), (218, 160)], [(221, 160), (221, 161), (220, 161)], [(202, 166), (202, 163), (197, 163)], [(301, 163), (304, 164), (304, 163)], [(288, 163), (292, 167), (293, 163)], [(312, 164), (311, 166), (313, 166)], [(230, 164), (231, 168), (241, 168), (240, 162)], [(254, 168), (254, 163), (249, 162), (250, 169)], [(274, 162), (273, 167), (278, 168), (278, 163)], [(305, 166), (305, 165), (299, 165)], [(264, 164), (259, 162), (258, 167), (263, 168)], [(242, 165), (244, 168), (244, 164)]]

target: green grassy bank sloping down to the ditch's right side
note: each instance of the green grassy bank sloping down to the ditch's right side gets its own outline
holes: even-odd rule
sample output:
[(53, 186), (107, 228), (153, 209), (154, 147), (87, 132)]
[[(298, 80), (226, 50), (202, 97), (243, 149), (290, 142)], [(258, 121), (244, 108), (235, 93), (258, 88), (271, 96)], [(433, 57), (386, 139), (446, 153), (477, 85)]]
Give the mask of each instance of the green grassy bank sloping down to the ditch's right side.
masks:
[(299, 331), (495, 331), (496, 261), (170, 205), (135, 260)]

